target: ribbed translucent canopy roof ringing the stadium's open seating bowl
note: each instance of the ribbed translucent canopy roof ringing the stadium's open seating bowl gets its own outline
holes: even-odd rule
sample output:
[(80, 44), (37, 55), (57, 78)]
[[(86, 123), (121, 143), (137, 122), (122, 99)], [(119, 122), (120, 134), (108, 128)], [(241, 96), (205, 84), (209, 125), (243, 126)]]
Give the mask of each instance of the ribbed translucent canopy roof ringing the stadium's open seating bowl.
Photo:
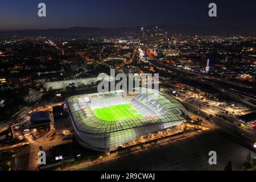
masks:
[[(96, 98), (106, 100), (107, 98), (113, 97), (115, 94), (117, 93), (109, 92), (69, 97), (67, 104), (71, 110), (71, 117), (76, 129), (86, 134), (106, 134), (116, 131), (122, 132), (123, 130), (131, 128), (156, 125), (159, 124), (159, 122), (163, 123), (163, 125), (169, 122), (173, 122), (174, 125), (185, 122), (185, 119), (175, 112), (176, 110), (182, 110), (185, 113), (184, 107), (175, 100), (175, 98), (164, 93), (157, 95), (154, 92), (147, 91), (148, 98), (153, 98), (153, 100), (155, 100), (154, 103), (161, 105), (161, 107), (163, 107), (162, 110), (166, 110), (164, 113), (144, 115), (143, 117), (125, 119), (122, 121), (103, 121), (97, 118), (93, 113), (93, 110), (89, 106), (90, 103), (84, 102), (84, 98), (86, 97), (92, 100)], [(143, 98), (147, 99), (146, 97)], [(97, 102), (100, 103), (100, 100)]]

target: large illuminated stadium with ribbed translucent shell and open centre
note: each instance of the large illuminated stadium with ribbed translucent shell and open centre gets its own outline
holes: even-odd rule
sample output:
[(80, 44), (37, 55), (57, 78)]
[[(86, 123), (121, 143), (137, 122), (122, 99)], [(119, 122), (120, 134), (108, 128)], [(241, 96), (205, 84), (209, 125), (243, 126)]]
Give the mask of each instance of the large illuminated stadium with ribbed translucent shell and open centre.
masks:
[(175, 98), (155, 90), (134, 89), (67, 98), (79, 143), (109, 152), (144, 135), (186, 122), (187, 110)]

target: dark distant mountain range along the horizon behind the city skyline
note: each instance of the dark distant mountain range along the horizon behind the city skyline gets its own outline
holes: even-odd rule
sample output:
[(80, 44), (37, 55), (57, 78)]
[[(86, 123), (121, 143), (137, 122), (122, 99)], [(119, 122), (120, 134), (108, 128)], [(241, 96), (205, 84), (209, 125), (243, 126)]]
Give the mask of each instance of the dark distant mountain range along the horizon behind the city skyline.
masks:
[[(144, 30), (150, 30), (155, 26), (146, 26)], [(229, 34), (256, 34), (256, 26), (236, 27), (236, 26), (158, 26), (168, 32), (169, 35), (229, 35)], [(138, 32), (141, 27), (119, 27), (119, 28), (92, 28), (92, 27), (71, 27), (61, 29), (46, 30), (13, 30), (0, 31), (0, 36), (126, 36), (127, 32)]]

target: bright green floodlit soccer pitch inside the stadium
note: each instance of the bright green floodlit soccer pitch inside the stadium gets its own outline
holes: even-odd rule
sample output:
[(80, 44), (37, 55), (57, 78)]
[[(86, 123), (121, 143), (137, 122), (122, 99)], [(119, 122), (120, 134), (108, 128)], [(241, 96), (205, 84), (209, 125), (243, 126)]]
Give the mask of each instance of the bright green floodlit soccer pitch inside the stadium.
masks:
[(142, 115), (130, 104), (94, 109), (93, 113), (97, 118), (104, 121), (122, 121), (142, 117)]

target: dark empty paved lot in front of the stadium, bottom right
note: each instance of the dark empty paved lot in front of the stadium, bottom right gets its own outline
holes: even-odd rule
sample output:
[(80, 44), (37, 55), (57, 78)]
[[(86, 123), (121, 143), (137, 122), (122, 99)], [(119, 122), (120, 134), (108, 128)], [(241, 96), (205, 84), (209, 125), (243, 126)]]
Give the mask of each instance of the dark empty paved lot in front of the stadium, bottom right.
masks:
[[(208, 163), (209, 151), (217, 152), (216, 166), (210, 166)], [(119, 156), (117, 159), (84, 167), (80, 170), (223, 171), (229, 160), (233, 162), (233, 170), (240, 170), (247, 154), (249, 154), (247, 148), (226, 137), (221, 130), (214, 130), (175, 140), (150, 150)], [(251, 152), (251, 154), (253, 158), (256, 155), (255, 152)]]

